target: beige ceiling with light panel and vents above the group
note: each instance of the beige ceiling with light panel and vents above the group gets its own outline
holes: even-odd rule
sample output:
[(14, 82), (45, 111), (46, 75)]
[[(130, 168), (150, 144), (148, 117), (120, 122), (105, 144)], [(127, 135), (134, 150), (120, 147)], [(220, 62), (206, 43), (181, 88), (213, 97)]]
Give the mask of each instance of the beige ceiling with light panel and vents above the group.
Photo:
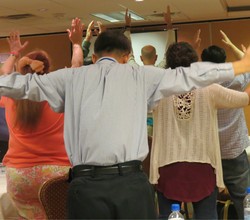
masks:
[[(145, 18), (132, 21), (139, 27), (163, 24), (162, 13), (170, 5), (173, 23), (250, 19), (250, 0), (1, 0), (0, 37), (10, 31), (19, 30), (21, 35), (36, 35), (65, 32), (74, 17), (88, 25), (97, 20), (92, 13), (111, 13), (125, 8)], [(109, 23), (107, 27), (122, 27), (124, 21)]]

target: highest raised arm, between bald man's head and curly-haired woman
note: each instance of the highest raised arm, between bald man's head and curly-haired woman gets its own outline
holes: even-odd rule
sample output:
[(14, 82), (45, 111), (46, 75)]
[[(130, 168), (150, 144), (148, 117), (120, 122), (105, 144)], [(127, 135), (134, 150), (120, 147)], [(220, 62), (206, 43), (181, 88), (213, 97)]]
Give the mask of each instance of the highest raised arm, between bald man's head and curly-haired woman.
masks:
[(160, 68), (165, 68), (166, 67), (166, 52), (168, 50), (168, 47), (170, 44), (175, 43), (175, 31), (173, 29), (173, 24), (172, 24), (172, 19), (171, 19), (171, 11), (170, 11), (170, 6), (167, 6), (166, 12), (163, 12), (164, 15), (164, 21), (166, 23), (166, 29), (167, 29), (167, 37), (166, 37), (166, 46), (165, 46), (165, 53), (163, 60), (157, 65)]

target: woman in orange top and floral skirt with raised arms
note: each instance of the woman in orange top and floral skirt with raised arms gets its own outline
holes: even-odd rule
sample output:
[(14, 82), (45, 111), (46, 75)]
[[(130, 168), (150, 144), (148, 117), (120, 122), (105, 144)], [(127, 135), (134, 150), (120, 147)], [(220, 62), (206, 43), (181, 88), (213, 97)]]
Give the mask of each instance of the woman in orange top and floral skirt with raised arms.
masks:
[[(74, 44), (73, 53), (78, 53), (81, 60), (82, 25), (79, 19), (73, 23), (76, 31), (70, 30), (69, 37)], [(17, 32), (10, 35), (9, 44), (14, 52), (3, 72), (13, 69), (12, 64), (26, 46), (21, 45)], [(17, 62), (17, 70), (22, 74), (49, 73), (49, 57), (45, 51), (28, 53)], [(47, 102), (1, 97), (1, 105), (6, 109), (10, 132), (9, 149), (3, 160), (7, 192), (21, 219), (46, 219), (38, 198), (39, 189), (46, 180), (65, 175), (70, 168), (63, 139), (64, 114), (53, 112)]]

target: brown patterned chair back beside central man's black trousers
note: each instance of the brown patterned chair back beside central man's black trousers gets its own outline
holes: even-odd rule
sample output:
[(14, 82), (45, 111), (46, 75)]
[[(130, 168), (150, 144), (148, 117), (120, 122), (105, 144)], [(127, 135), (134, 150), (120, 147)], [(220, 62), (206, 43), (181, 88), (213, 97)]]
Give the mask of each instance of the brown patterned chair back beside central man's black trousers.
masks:
[(40, 188), (39, 199), (48, 219), (67, 218), (68, 176), (59, 176), (47, 180)]

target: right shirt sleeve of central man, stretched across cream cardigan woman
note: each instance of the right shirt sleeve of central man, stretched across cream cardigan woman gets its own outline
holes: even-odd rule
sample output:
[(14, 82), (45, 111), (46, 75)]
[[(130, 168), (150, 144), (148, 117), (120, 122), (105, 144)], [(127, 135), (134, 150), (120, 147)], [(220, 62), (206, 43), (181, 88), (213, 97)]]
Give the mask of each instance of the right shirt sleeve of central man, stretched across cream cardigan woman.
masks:
[(141, 68), (145, 68), (149, 109), (154, 108), (163, 97), (189, 92), (195, 88), (234, 78), (232, 63), (197, 62), (190, 67), (176, 69), (146, 66)]

